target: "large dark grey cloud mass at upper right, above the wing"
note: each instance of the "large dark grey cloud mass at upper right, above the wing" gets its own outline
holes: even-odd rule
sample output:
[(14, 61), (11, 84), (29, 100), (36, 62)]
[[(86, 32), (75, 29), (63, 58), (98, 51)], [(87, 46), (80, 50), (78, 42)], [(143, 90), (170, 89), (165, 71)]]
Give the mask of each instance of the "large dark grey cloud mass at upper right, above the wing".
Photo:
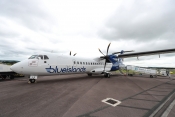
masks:
[(98, 34), (106, 40), (175, 42), (174, 3), (173, 0), (125, 1)]

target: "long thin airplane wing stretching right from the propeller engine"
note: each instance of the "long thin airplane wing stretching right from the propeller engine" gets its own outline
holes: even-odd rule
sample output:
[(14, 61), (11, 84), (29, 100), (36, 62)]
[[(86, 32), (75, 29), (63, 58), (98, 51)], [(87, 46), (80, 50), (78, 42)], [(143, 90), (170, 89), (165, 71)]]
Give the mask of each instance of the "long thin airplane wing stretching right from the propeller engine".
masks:
[(139, 56), (149, 56), (149, 55), (156, 55), (156, 54), (166, 54), (166, 53), (173, 53), (175, 49), (165, 49), (165, 50), (156, 50), (156, 51), (146, 51), (146, 52), (137, 52), (137, 53), (128, 53), (128, 54), (119, 54), (119, 58), (129, 58), (129, 57), (139, 57)]

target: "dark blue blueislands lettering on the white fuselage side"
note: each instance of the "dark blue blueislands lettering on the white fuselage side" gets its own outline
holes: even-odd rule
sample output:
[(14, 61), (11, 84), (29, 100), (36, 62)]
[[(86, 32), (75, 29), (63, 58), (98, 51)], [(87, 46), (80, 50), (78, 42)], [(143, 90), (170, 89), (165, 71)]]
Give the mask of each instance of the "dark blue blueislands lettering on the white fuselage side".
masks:
[(70, 72), (85, 72), (86, 68), (83, 66), (82, 68), (74, 68), (67, 67), (67, 68), (61, 68), (60, 70), (56, 66), (55, 68), (52, 68), (51, 66), (49, 68), (45, 68), (48, 73), (70, 73)]

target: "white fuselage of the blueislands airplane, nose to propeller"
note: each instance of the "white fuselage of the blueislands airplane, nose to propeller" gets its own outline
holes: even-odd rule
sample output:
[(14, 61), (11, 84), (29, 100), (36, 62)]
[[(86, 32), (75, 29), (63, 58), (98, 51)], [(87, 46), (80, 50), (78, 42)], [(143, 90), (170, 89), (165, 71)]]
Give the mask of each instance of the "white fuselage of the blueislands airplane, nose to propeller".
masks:
[[(100, 74), (104, 71), (105, 60), (84, 59), (75, 56), (59, 56), (55, 54), (34, 55), (14, 64), (11, 69), (26, 75), (57, 75), (74, 73)], [(45, 56), (48, 58), (45, 59)], [(112, 63), (107, 63), (105, 71), (110, 71)]]

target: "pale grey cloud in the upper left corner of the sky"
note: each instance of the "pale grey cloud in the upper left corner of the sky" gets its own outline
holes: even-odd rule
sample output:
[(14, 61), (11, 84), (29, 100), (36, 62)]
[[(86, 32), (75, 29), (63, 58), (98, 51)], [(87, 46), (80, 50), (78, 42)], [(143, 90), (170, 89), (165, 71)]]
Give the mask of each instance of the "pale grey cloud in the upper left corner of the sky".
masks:
[(40, 2), (39, 0), (0, 1), (0, 15), (12, 19), (31, 30), (49, 32), (54, 20)]

